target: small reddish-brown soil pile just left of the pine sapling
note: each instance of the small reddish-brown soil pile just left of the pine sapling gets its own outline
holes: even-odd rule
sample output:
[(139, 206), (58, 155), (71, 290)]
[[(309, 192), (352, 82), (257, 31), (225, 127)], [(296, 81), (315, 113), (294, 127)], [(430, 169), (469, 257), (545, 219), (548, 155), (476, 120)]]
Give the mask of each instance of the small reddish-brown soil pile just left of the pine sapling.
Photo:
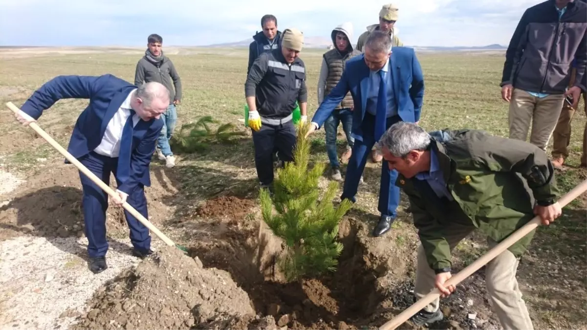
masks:
[(195, 212), (205, 218), (233, 218), (239, 219), (249, 213), (255, 207), (255, 201), (236, 196), (219, 196), (207, 200), (203, 206), (198, 207)]

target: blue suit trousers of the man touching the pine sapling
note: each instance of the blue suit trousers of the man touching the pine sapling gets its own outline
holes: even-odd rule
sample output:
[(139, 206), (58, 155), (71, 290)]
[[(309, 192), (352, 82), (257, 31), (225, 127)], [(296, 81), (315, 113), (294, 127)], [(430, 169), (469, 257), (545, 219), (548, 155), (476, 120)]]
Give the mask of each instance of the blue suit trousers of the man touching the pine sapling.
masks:
[[(389, 129), (394, 123), (400, 122), (399, 116), (392, 116), (387, 118), (386, 129)], [(343, 188), (341, 199), (348, 198), (355, 203), (355, 195), (359, 188), (359, 181), (367, 157), (373, 146), (375, 145), (375, 116), (369, 113), (365, 114), (363, 123), (361, 124), (363, 130), (363, 140), (355, 139), (353, 144), (353, 153), (350, 156), (349, 164), (346, 167), (345, 187)], [(386, 160), (382, 161), (381, 166), (381, 186), (379, 188), (379, 206), (377, 210), (381, 215), (389, 215), (396, 217), (396, 208), (400, 202), (400, 188), (396, 186), (397, 171), (390, 170)]]

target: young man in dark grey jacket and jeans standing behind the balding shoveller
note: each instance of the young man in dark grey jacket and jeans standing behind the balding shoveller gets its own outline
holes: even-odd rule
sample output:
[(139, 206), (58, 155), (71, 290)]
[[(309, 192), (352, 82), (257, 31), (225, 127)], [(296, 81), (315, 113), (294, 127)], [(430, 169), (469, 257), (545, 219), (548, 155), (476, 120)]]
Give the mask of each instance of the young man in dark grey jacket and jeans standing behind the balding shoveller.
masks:
[(147, 50), (137, 63), (137, 69), (134, 73), (134, 85), (140, 86), (147, 82), (158, 82), (167, 87), (169, 91), (170, 105), (167, 107), (167, 112), (161, 115), (164, 125), (157, 139), (157, 156), (159, 160), (165, 160), (166, 166), (171, 168), (176, 165), (176, 159), (171, 152), (169, 140), (177, 122), (176, 105), (181, 101), (181, 79), (173, 62), (163, 55), (162, 45), (163, 38), (160, 35), (152, 34), (147, 38)]

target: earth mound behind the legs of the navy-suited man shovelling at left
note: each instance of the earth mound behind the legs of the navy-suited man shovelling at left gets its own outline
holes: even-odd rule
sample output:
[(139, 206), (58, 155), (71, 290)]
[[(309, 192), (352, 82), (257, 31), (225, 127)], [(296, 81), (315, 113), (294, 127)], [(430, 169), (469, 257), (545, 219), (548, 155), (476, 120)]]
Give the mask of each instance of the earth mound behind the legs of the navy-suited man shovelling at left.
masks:
[[(170, 181), (167, 182), (167, 181)], [(110, 177), (110, 187), (116, 187)], [(175, 181), (168, 173), (151, 170), (151, 187), (146, 188), (149, 220), (160, 224), (173, 216), (167, 196), (174, 194)], [(43, 166), (15, 191), (5, 194), (0, 202), (0, 240), (22, 234), (41, 237), (82, 237), (84, 233), (82, 185), (79, 171), (71, 164), (56, 160)], [(107, 233), (128, 233), (123, 208), (109, 206), (106, 211)]]

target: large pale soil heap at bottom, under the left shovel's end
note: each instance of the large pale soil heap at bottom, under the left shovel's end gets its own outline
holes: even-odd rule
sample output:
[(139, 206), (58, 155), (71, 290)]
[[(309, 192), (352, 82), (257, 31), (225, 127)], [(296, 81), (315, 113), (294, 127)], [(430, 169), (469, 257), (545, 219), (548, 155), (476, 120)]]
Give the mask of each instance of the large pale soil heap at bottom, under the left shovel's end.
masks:
[[(72, 329), (188, 329), (254, 315), (230, 274), (166, 247), (98, 292)], [(228, 321), (227, 321), (228, 320)]]

